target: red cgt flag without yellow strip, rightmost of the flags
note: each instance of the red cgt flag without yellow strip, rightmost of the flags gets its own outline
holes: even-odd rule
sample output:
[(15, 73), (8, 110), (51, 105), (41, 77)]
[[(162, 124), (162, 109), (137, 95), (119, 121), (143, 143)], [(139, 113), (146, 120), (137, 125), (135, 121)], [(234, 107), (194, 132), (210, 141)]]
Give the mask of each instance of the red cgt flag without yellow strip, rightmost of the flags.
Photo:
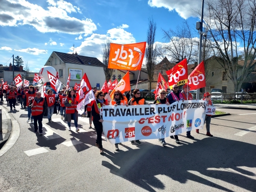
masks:
[(195, 69), (190, 73), (188, 83), (191, 90), (200, 89), (206, 87), (205, 82), (205, 70), (204, 61), (202, 61)]

